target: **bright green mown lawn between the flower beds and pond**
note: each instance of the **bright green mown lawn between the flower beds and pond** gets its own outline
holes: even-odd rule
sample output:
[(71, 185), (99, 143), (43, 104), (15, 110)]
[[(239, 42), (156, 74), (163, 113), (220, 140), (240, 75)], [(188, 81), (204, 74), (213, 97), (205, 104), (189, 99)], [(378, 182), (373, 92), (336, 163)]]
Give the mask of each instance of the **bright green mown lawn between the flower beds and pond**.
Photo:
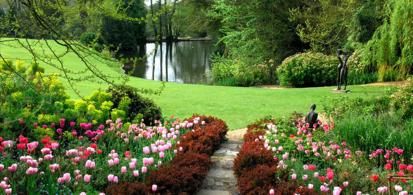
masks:
[[(64, 48), (57, 43), (50, 41), (52, 48), (58, 52), (63, 52)], [(39, 46), (35, 48), (40, 51)], [(19, 58), (30, 63), (31, 54), (23, 48), (10, 48), (1, 45), (1, 55), (4, 58)], [(80, 59), (73, 53), (67, 54), (64, 58), (65, 68), (70, 70), (84, 69)], [(97, 61), (94, 63), (98, 63)], [(47, 67), (45, 73), (59, 73), (54, 67)], [(121, 70), (100, 65), (102, 72), (112, 75), (122, 74)], [(136, 70), (139, 71), (139, 70)], [(62, 80), (67, 86), (68, 82)], [(161, 82), (131, 77), (129, 84), (139, 88), (157, 89)], [(81, 95), (88, 96), (94, 90), (105, 89), (107, 85), (95, 84), (85, 81), (78, 83), (76, 89), (81, 91)], [(154, 99), (162, 108), (164, 117), (170, 115), (185, 118), (192, 113), (212, 115), (225, 120), (230, 130), (244, 128), (254, 122), (255, 119), (263, 116), (285, 116), (297, 110), (305, 113), (310, 110), (310, 104), (317, 104), (316, 111), (322, 110), (321, 101), (323, 96), (335, 97), (345, 95), (349, 97), (368, 97), (382, 94), (386, 86), (349, 86), (351, 90), (348, 94), (337, 94), (330, 92), (335, 87), (303, 88), (303, 89), (261, 89), (255, 87), (224, 87), (206, 86), (197, 84), (179, 84), (167, 82), (161, 95), (148, 95)], [(79, 97), (70, 88), (66, 92), (72, 99)]]

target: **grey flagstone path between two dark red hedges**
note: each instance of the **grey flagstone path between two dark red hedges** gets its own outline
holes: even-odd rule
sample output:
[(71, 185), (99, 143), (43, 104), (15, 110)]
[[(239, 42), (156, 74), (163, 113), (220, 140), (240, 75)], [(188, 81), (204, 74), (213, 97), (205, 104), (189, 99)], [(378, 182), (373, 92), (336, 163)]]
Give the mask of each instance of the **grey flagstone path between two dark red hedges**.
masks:
[(243, 141), (228, 140), (213, 156), (212, 165), (204, 184), (197, 195), (239, 195), (237, 179), (234, 176), (234, 158), (241, 149)]

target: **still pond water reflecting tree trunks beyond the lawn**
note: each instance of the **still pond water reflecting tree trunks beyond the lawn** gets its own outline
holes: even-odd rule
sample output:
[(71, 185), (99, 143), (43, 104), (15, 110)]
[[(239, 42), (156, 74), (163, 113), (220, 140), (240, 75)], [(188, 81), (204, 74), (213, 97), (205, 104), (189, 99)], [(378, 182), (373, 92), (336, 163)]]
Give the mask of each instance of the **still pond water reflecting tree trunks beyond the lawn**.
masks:
[[(124, 58), (143, 58), (138, 60), (134, 77), (155, 81), (197, 84), (201, 80), (207, 81), (205, 71), (211, 69), (212, 54), (211, 41), (181, 41), (177, 43), (159, 43), (156, 50), (155, 43), (146, 43), (133, 51), (121, 51)], [(132, 63), (125, 64), (123, 70), (131, 71)]]

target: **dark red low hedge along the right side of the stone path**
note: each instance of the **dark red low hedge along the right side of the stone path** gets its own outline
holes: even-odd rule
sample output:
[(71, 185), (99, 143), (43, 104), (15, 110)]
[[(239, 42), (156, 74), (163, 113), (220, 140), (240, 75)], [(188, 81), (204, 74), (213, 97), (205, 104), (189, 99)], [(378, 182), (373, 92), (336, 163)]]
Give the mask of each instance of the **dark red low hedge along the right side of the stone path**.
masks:
[[(234, 173), (241, 195), (317, 195), (314, 190), (302, 187), (293, 181), (288, 169), (278, 168), (279, 160), (269, 150), (263, 149), (266, 134), (265, 124), (276, 123), (275, 119), (261, 119), (248, 125), (244, 135), (244, 145), (234, 159)], [(256, 140), (258, 139), (258, 140)]]

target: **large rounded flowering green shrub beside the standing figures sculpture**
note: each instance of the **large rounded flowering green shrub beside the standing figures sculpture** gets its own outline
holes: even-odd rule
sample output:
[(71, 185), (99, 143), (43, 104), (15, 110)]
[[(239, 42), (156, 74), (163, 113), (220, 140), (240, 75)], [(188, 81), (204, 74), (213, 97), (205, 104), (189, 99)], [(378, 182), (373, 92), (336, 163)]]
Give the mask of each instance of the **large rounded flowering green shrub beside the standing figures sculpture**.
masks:
[(338, 60), (322, 53), (298, 53), (277, 68), (283, 87), (333, 86), (337, 81)]

